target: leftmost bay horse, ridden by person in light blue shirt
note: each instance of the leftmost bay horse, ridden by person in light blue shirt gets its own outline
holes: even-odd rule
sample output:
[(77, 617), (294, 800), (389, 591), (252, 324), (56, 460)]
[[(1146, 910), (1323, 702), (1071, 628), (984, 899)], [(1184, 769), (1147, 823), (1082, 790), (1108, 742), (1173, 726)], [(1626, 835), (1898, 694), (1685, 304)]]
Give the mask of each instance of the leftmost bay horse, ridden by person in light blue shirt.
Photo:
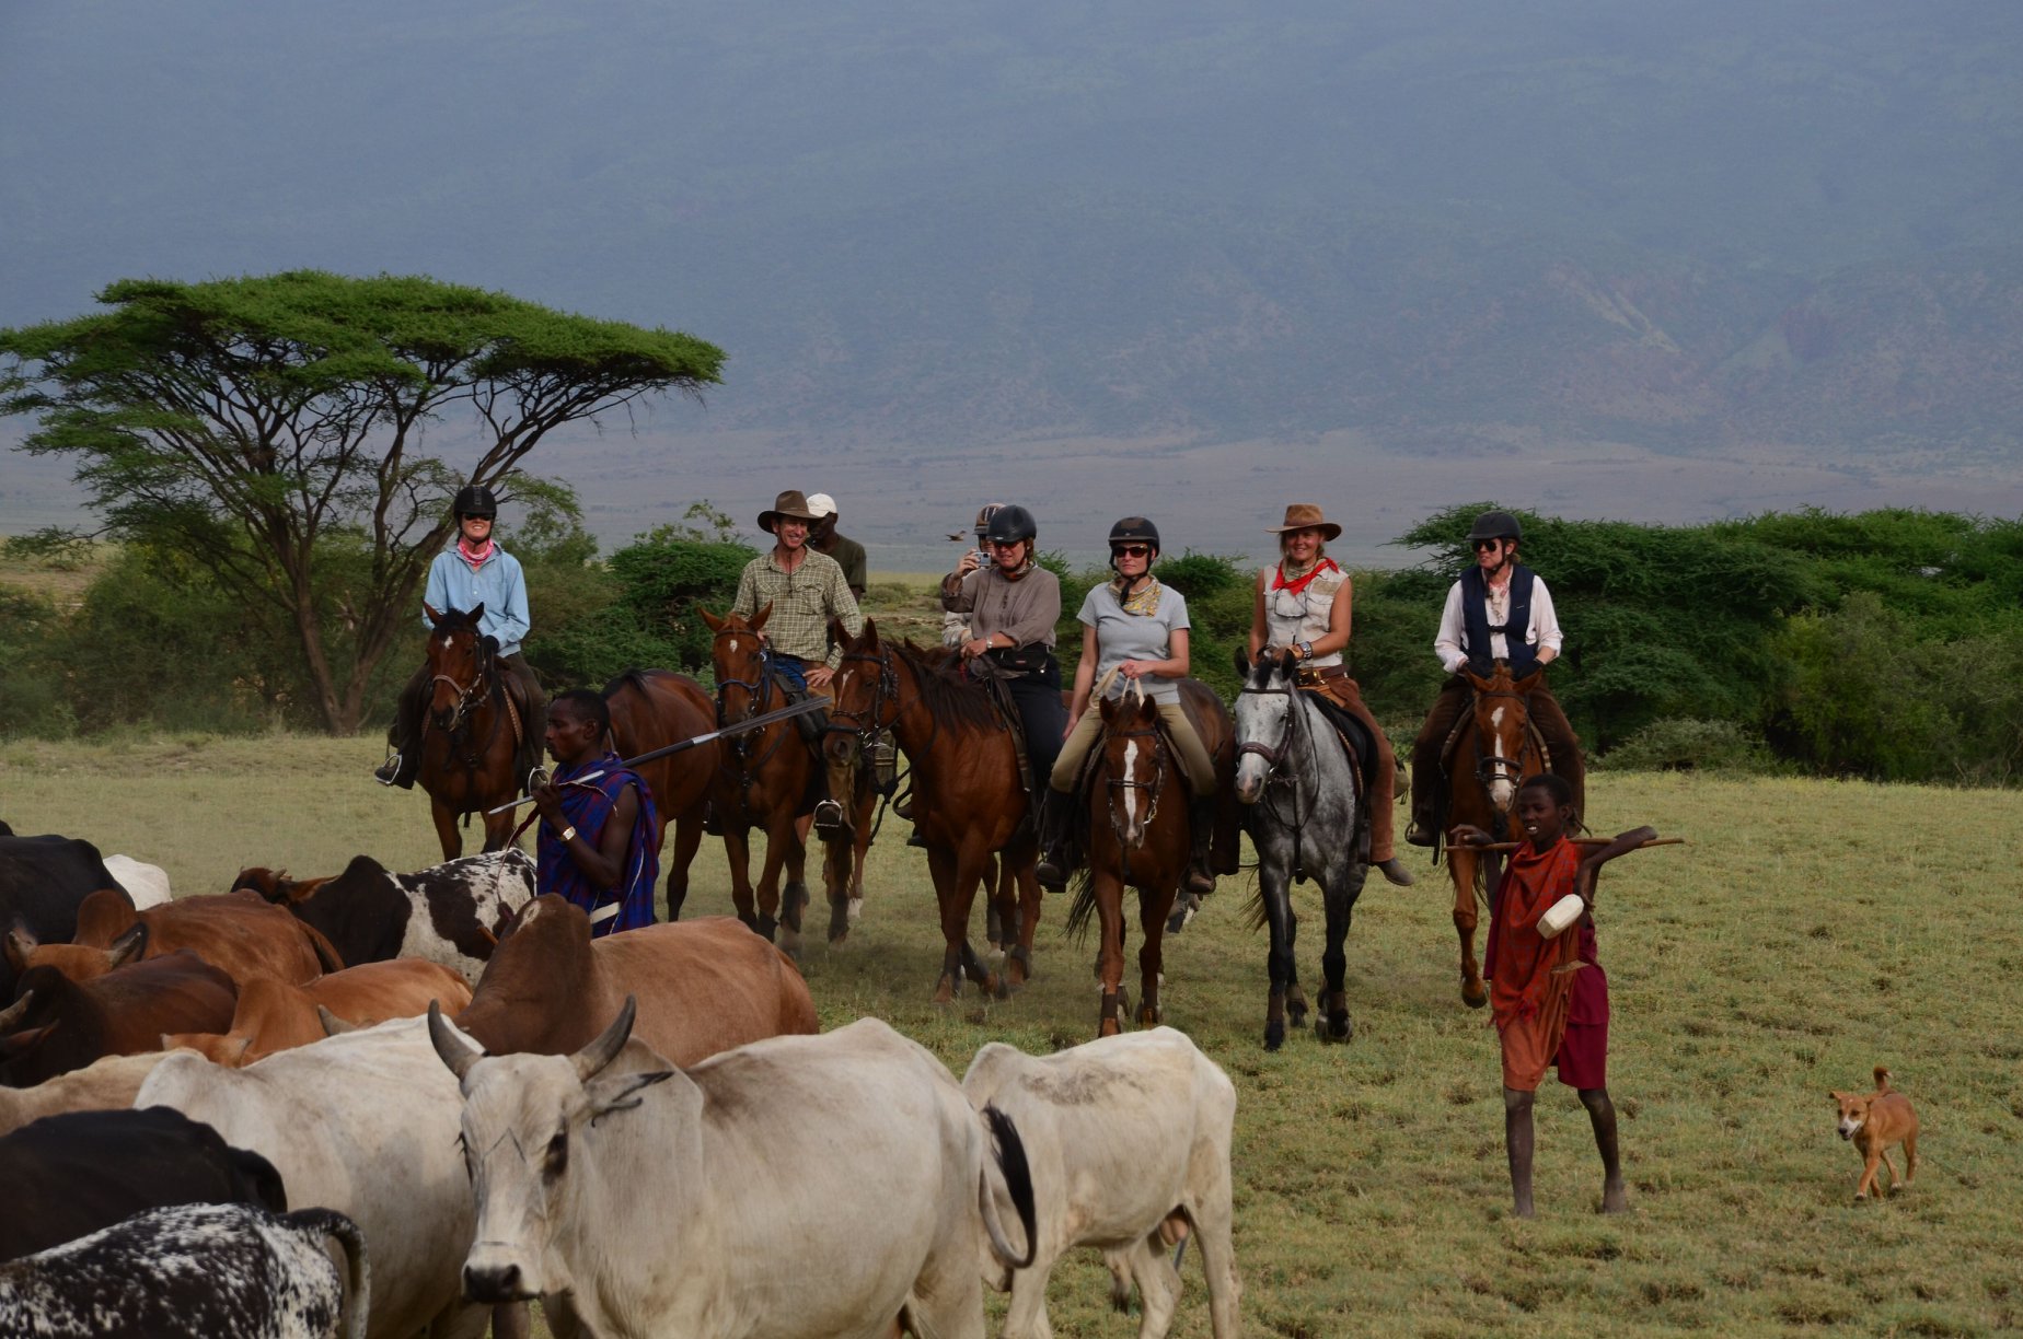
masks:
[[(457, 815), (483, 813), (520, 795), (524, 777), (516, 775), (514, 763), (524, 736), (544, 734), (546, 702), (528, 704), (528, 718), (520, 718), (494, 643), (477, 631), (486, 611), (481, 603), (469, 611), (437, 611), (431, 605), (423, 611), (435, 631), (429, 633), (429, 710), (423, 714), (417, 779), (429, 793), (443, 860), (455, 860), (463, 854)], [(512, 813), (486, 813), (486, 850), (512, 841)]]

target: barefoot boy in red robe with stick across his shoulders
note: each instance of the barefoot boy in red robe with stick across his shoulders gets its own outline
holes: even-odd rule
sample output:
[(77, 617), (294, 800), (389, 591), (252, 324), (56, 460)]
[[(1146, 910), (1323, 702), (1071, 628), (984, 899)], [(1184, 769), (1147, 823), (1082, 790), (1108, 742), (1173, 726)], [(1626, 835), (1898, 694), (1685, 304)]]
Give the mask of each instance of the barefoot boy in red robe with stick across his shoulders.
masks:
[[(1608, 1100), (1608, 977), (1594, 957), (1594, 882), (1604, 864), (1657, 837), (1639, 827), (1602, 847), (1566, 839), (1574, 823), (1574, 791), (1562, 777), (1531, 777), (1517, 791), (1517, 823), (1525, 843), (1511, 852), (1489, 910), (1483, 975), (1503, 1044), (1503, 1143), (1511, 1163), (1517, 1218), (1531, 1218), (1531, 1100), (1548, 1066), (1580, 1092), (1602, 1153), (1602, 1212), (1626, 1212), (1622, 1159), (1616, 1151), (1616, 1108)], [(1491, 841), (1481, 827), (1461, 823), (1455, 841)], [(1537, 920), (1570, 892), (1584, 902), (1580, 920), (1558, 939), (1540, 934)]]

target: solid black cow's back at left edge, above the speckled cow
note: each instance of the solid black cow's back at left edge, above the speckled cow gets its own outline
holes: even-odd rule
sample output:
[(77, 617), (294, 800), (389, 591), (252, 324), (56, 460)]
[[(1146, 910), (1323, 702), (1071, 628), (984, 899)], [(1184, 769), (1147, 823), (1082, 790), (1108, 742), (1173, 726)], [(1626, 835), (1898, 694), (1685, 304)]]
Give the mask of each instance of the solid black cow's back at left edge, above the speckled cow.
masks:
[(142, 1210), (257, 1203), (287, 1210), (281, 1173), (180, 1110), (75, 1110), (0, 1139), (0, 1260), (30, 1256)]

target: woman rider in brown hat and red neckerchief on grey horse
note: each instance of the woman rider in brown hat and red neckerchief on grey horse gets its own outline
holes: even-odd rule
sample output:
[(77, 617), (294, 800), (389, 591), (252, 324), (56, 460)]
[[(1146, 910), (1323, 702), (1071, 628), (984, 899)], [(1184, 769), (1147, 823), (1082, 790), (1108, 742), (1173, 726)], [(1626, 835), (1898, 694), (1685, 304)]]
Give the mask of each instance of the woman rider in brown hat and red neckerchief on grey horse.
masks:
[(1291, 651), (1297, 661), (1299, 688), (1353, 716), (1376, 752), (1370, 758), (1370, 864), (1394, 884), (1410, 884), (1412, 876), (1392, 850), (1392, 789), (1398, 765), (1390, 740), (1376, 716), (1364, 706), (1364, 694), (1341, 663), (1349, 645), (1349, 615), (1353, 587), (1333, 558), (1327, 540), (1341, 526), (1321, 516), (1321, 508), (1295, 502), (1285, 510), (1283, 526), (1266, 526), (1279, 536), (1279, 566), (1258, 572), (1258, 599), (1250, 615), (1250, 657)]

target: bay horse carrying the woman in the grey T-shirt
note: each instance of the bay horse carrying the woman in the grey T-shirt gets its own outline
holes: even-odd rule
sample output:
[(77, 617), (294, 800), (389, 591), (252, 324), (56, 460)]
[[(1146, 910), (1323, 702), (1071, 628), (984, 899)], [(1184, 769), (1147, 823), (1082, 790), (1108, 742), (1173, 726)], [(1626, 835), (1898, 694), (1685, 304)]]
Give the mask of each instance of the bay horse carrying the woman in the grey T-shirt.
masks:
[[(1202, 744), (1216, 758), (1228, 785), (1228, 761), (1234, 752), (1234, 730), (1222, 700), (1198, 680), (1181, 680), (1179, 694), (1198, 722)], [(1119, 1013), (1131, 1011), (1123, 989), (1125, 971), (1125, 888), (1139, 894), (1139, 1028), (1157, 1028), (1165, 1019), (1159, 999), (1165, 981), (1163, 934), (1167, 916), (1179, 896), (1179, 882), (1194, 852), (1194, 829), (1188, 807), (1188, 787), (1179, 773), (1173, 744), (1159, 728), (1159, 704), (1145, 696), (1133, 680), (1121, 698), (1101, 702), (1103, 734), (1090, 750), (1086, 795), (1076, 819), (1086, 819), (1088, 868), (1082, 872), (1074, 906), (1068, 910), (1068, 932), (1076, 934), (1094, 914), (1101, 930), (1096, 951), (1096, 981), (1103, 997), (1096, 1007), (1096, 1036), (1123, 1032)], [(1218, 831), (1224, 852), (1236, 831)]]

